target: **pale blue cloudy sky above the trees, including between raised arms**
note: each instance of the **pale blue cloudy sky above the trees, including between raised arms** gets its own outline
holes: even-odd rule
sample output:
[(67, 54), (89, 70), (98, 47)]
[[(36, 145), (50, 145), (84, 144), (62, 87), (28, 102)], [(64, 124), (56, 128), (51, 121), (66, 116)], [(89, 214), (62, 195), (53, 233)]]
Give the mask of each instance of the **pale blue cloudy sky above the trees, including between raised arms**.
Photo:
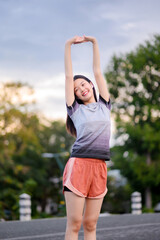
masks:
[[(65, 118), (65, 41), (95, 36), (104, 72), (114, 53), (160, 32), (159, 9), (159, 0), (0, 0), (0, 81), (30, 84), (39, 111)], [(90, 43), (73, 46), (72, 59), (74, 74), (93, 78)]]

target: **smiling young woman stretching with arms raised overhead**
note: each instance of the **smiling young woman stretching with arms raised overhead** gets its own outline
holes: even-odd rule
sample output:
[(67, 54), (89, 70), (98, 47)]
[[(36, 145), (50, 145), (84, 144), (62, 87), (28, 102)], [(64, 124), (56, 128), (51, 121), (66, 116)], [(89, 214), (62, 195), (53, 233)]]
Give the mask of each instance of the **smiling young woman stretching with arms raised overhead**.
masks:
[[(99, 90), (97, 101), (93, 83), (83, 75), (73, 77), (71, 45), (93, 44), (93, 73)], [(67, 209), (65, 240), (77, 240), (83, 223), (84, 239), (96, 240), (96, 225), (107, 193), (110, 159), (110, 96), (100, 69), (96, 38), (75, 36), (65, 44), (65, 95), (67, 130), (76, 137), (63, 174)]]

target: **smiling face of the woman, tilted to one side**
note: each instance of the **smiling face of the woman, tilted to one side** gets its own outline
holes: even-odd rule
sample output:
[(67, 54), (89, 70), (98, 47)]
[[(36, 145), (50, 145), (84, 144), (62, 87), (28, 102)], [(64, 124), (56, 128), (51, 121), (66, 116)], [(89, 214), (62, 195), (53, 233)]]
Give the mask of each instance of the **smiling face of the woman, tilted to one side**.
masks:
[(83, 78), (78, 78), (74, 81), (74, 93), (84, 104), (95, 102), (93, 84)]

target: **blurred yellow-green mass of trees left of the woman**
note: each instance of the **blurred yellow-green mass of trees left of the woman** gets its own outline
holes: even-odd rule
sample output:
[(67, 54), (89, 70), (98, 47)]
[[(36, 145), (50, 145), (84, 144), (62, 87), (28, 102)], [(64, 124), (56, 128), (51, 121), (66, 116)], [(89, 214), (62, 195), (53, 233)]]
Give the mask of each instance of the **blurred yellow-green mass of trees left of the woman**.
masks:
[[(32, 214), (38, 217), (37, 206), (45, 211), (47, 199), (59, 204), (61, 177), (56, 159), (42, 157), (42, 153), (69, 152), (73, 138), (67, 135), (65, 123), (44, 125), (31, 111), (33, 89), (22, 83), (0, 86), (0, 218), (18, 219), (19, 195), (31, 195)], [(64, 163), (67, 156), (64, 157)]]

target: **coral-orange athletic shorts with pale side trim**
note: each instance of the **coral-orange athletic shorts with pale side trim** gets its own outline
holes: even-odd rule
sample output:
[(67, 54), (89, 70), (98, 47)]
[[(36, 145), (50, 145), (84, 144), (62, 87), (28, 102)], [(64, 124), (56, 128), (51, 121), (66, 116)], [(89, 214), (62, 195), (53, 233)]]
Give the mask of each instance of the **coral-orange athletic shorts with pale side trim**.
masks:
[(64, 186), (80, 197), (103, 198), (107, 193), (107, 166), (104, 160), (69, 158), (63, 173)]

